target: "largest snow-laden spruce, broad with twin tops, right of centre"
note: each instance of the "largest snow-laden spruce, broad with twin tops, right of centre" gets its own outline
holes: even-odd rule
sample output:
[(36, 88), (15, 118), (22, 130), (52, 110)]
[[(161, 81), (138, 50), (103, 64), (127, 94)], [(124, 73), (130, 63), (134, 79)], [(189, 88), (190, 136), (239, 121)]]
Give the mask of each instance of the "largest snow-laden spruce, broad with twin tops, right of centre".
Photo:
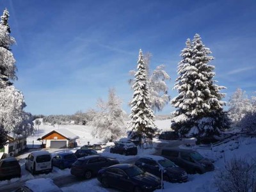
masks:
[(221, 101), (225, 94), (213, 80), (214, 66), (208, 65), (213, 60), (209, 48), (202, 43), (200, 35), (194, 36), (193, 42), (186, 42), (182, 50), (178, 66), (177, 89), (179, 95), (172, 99), (175, 108), (175, 117), (172, 120), (172, 129), (187, 136), (213, 138), (221, 130), (229, 126), (227, 115), (223, 112), (225, 102)]

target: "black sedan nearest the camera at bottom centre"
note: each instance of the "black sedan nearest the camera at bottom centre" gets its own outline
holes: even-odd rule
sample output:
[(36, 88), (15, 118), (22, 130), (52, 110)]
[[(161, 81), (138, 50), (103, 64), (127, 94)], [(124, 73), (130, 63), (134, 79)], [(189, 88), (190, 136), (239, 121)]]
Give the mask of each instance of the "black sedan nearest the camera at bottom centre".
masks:
[(154, 191), (161, 189), (159, 177), (144, 172), (133, 164), (116, 164), (99, 170), (97, 179), (104, 188), (113, 187), (123, 191)]

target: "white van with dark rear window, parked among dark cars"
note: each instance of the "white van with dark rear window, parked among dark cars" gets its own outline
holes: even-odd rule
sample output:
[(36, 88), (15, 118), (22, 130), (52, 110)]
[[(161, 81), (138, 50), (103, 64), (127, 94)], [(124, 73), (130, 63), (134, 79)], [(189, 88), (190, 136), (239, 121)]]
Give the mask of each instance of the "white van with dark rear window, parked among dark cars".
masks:
[(52, 172), (52, 156), (47, 151), (33, 151), (26, 157), (25, 168), (32, 174)]

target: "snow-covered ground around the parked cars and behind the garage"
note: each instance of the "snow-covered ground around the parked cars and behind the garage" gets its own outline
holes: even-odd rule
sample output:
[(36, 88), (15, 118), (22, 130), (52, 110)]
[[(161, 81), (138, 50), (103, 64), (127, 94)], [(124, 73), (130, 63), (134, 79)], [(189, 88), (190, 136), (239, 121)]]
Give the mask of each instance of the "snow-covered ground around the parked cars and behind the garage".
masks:
[[(167, 130), (170, 125), (170, 120), (162, 120), (156, 121), (156, 124), (159, 126), (159, 129)], [(91, 135), (92, 127), (86, 125), (60, 125), (60, 127), (52, 125), (40, 125), (40, 129), (38, 132), (38, 136), (41, 137), (44, 134), (54, 130), (54, 129), (68, 129), (72, 131), (74, 134), (77, 134), (80, 138), (77, 140), (77, 144), (82, 146), (87, 144), (90, 141), (90, 144), (100, 142), (99, 139), (93, 138)], [(28, 138), (28, 143), (31, 144), (34, 140), (35, 144), (40, 144), (40, 142), (36, 141), (37, 139), (37, 132), (35, 136)], [(166, 141), (165, 141), (166, 142)], [(154, 140), (154, 147), (156, 147), (157, 143), (161, 143), (159, 140)], [(188, 148), (184, 146), (180, 146), (182, 148)], [(79, 148), (79, 147), (77, 147)], [(169, 183), (164, 182), (164, 189), (163, 191), (190, 191), (190, 192), (207, 192), (207, 191), (217, 191), (216, 186), (214, 186), (214, 175), (218, 173), (221, 169), (225, 168), (225, 161), (228, 161), (232, 157), (256, 157), (256, 138), (240, 138), (238, 141), (229, 141), (223, 145), (218, 147), (212, 148), (212, 150), (205, 150), (199, 149), (195, 146), (191, 148), (197, 150), (203, 156), (212, 159), (215, 161), (214, 172), (207, 172), (203, 175), (195, 174), (189, 175), (189, 181), (186, 183)], [(65, 151), (72, 151), (75, 152), (76, 148), (72, 149), (49, 149), (49, 152), (52, 153), (52, 156), (55, 156), (58, 152), (65, 152)], [(108, 149), (98, 151), (99, 154), (107, 157), (113, 157), (118, 159), (121, 163), (124, 161), (129, 161), (129, 159), (133, 159), (134, 156), (122, 156), (119, 154), (110, 154)], [(140, 149), (138, 150), (138, 155), (136, 157), (143, 156), (143, 154), (153, 154), (156, 152), (154, 148), (148, 149)], [(12, 184), (13, 182), (17, 181), (24, 181), (29, 179), (35, 179), (40, 177), (45, 178), (56, 178), (65, 175), (70, 175), (70, 169), (60, 170), (59, 168), (54, 167), (52, 173), (49, 174), (40, 174), (40, 175), (31, 175), (27, 170), (24, 168), (25, 160), (24, 158), (28, 156), (28, 153), (22, 154), (18, 158), (20, 159), (20, 165), (22, 168), (22, 177), (15, 178), (11, 180), (3, 180), (0, 181), (0, 187)], [(100, 182), (97, 179), (90, 179), (90, 180), (81, 180), (80, 182), (73, 184), (68, 187), (61, 188), (63, 191), (83, 191), (86, 188), (86, 191), (116, 191), (115, 189), (104, 189), (100, 185)], [(161, 191), (161, 190), (158, 190)]]

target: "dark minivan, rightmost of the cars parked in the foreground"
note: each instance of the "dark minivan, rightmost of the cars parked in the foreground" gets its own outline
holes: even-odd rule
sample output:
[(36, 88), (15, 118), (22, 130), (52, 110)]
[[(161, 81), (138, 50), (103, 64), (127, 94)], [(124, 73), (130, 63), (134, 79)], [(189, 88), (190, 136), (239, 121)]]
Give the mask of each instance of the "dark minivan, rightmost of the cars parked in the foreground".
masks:
[(161, 156), (170, 159), (181, 168), (184, 168), (188, 173), (202, 174), (214, 170), (214, 164), (195, 150), (164, 148), (161, 152)]

